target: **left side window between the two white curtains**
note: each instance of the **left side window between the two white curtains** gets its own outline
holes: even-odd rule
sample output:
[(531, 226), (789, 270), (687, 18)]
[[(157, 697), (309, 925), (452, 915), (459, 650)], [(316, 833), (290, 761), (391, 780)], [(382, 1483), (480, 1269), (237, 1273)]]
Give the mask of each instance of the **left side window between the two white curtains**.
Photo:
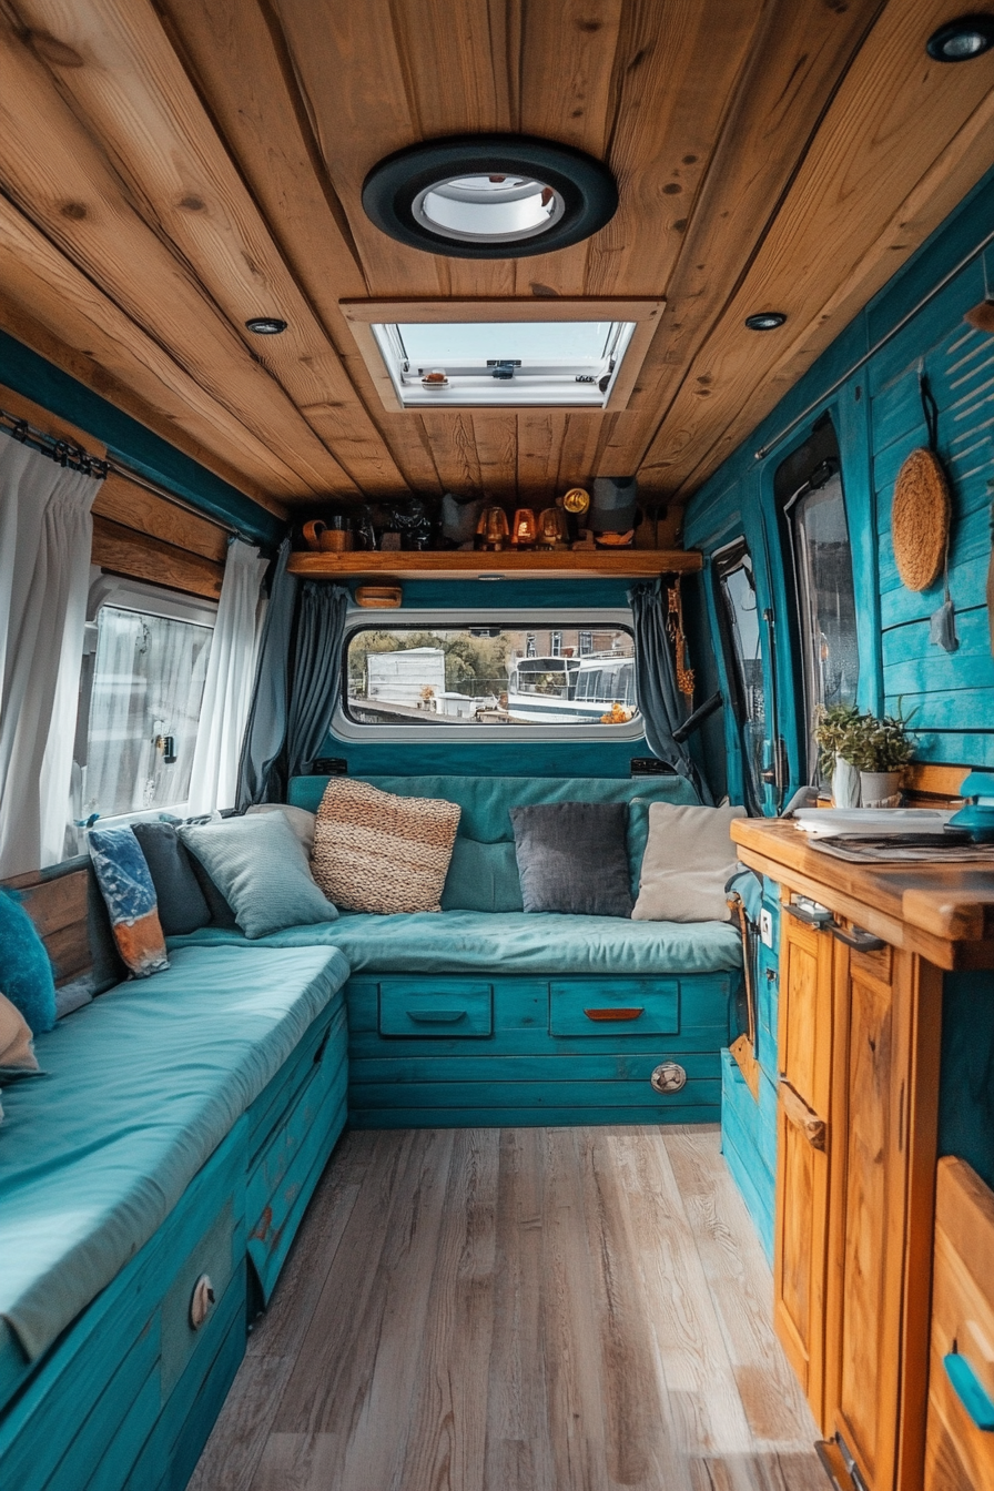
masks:
[[(80, 677), (75, 817), (177, 808), (189, 795), (212, 607), (97, 581)], [(106, 598), (104, 598), (106, 596)]]

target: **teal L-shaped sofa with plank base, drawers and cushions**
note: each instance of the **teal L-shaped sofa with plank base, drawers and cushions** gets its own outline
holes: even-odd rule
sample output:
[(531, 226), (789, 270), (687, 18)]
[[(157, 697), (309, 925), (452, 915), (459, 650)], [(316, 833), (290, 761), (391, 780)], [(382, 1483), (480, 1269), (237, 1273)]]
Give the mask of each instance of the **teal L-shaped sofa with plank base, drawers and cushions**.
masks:
[(717, 1120), (735, 927), (525, 914), (508, 817), (626, 802), (636, 880), (683, 778), (367, 780), (462, 807), (441, 914), (173, 938), (167, 972), (60, 1021), (49, 1075), (4, 1090), (0, 1484), (186, 1485), (346, 1120)]

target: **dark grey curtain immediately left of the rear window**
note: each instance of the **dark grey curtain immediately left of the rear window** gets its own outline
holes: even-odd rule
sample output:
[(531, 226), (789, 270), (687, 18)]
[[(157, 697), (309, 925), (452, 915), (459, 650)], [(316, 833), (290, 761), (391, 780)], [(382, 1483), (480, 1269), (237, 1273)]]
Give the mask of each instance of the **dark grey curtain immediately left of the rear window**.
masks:
[(341, 584), (307, 580), (301, 589), (286, 726), (286, 769), (291, 777), (310, 768), (331, 729), (341, 678), (347, 604), (349, 592)]

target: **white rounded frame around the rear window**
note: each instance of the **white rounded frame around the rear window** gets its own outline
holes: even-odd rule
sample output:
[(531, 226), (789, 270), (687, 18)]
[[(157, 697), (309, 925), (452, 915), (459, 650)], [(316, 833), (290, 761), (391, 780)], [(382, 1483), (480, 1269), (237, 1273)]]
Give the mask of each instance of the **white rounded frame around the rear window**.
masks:
[(504, 741), (508, 746), (520, 746), (525, 741), (535, 744), (554, 741), (568, 748), (571, 741), (601, 741), (607, 746), (611, 741), (642, 740), (645, 726), (641, 714), (636, 714), (635, 719), (627, 720), (624, 725), (452, 725), (449, 728), (440, 725), (361, 725), (358, 720), (352, 720), (344, 711), (343, 695), (347, 683), (349, 643), (356, 632), (393, 631), (398, 626), (410, 626), (417, 631), (429, 631), (432, 628), (468, 631), (471, 626), (501, 626), (520, 632), (529, 629), (548, 631), (551, 625), (556, 629), (571, 631), (580, 628), (592, 631), (624, 628), (635, 635), (635, 623), (627, 607), (612, 607), (610, 610), (577, 610), (575, 607), (544, 610), (542, 607), (492, 605), (486, 611), (407, 610), (405, 607), (399, 611), (379, 611), (352, 602), (346, 616), (346, 632), (341, 643), (341, 686), (331, 722), (331, 734), (341, 741), (379, 741), (382, 746), (399, 746), (405, 741), (411, 744), (431, 741), (435, 746), (443, 743), (456, 744), (458, 741)]

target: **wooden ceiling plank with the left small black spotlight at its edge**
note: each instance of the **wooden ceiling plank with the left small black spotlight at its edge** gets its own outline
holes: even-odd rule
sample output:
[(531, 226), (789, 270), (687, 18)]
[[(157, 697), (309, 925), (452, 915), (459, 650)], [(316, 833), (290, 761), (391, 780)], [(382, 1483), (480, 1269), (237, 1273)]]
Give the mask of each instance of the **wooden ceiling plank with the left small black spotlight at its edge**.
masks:
[[(399, 471), (151, 4), (21, 0), (19, 15), (85, 58), (82, 67), (55, 69), (61, 92), (317, 438), (356, 486), (396, 491)], [(261, 341), (244, 331), (249, 316), (273, 312), (289, 322), (282, 337)]]

